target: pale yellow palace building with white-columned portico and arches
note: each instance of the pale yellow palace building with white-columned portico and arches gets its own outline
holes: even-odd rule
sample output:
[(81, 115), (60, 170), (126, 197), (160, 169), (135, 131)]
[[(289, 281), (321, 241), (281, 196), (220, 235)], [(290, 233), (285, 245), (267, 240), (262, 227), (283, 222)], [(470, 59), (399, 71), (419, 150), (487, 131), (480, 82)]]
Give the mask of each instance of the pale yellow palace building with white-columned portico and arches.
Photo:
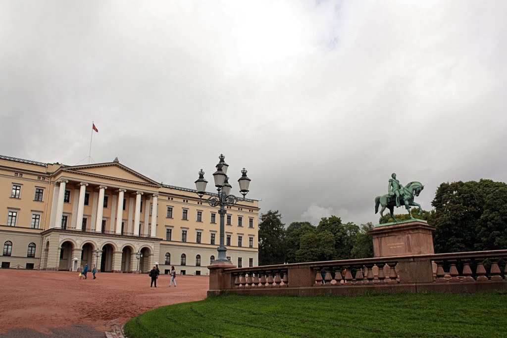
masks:
[[(208, 196), (213, 195), (208, 193)], [(220, 241), (218, 207), (195, 190), (120, 164), (67, 166), (0, 156), (2, 268), (148, 272), (158, 262), (206, 275)], [(259, 201), (227, 207), (227, 256), (258, 265)]]

